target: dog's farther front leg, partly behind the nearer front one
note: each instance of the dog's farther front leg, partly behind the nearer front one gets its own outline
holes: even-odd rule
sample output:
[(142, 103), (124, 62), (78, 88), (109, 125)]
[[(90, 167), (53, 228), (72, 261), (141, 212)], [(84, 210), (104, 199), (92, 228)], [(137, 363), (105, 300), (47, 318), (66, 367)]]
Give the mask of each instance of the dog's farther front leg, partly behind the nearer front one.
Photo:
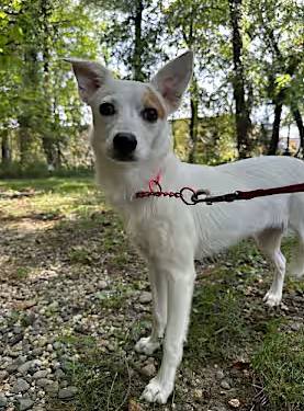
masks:
[(153, 354), (160, 346), (160, 339), (167, 324), (167, 277), (155, 264), (151, 264), (149, 279), (153, 293), (153, 330), (149, 336), (142, 338), (135, 345), (138, 353), (146, 355)]

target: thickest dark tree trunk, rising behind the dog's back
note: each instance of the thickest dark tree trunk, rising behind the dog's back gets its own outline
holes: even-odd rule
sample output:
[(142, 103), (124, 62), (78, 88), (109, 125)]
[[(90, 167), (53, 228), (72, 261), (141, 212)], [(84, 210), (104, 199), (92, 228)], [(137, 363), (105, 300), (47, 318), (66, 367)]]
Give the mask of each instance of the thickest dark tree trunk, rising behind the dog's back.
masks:
[(243, 41), (239, 28), (241, 0), (229, 0), (230, 24), (233, 30), (233, 55), (234, 55), (234, 100), (236, 110), (236, 135), (239, 158), (248, 157), (250, 150), (249, 133), (251, 119), (245, 98), (245, 72), (241, 61)]

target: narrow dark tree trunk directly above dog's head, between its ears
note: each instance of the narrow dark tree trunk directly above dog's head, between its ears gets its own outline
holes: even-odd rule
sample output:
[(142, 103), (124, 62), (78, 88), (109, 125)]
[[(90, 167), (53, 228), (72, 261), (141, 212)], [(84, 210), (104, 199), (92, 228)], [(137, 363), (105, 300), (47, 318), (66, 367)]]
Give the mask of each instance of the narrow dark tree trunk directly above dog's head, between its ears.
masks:
[(134, 41), (134, 54), (133, 54), (133, 78), (136, 81), (143, 81), (143, 38), (142, 38), (142, 23), (143, 23), (143, 0), (136, 1), (136, 9), (134, 15), (134, 26), (135, 26), (135, 41)]

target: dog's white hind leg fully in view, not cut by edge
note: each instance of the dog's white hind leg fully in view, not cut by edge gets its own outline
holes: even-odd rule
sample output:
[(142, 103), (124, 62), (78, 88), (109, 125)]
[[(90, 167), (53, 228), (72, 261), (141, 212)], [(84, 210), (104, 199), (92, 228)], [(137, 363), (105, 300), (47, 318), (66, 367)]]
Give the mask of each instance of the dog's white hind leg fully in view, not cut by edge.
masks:
[(281, 252), (282, 229), (266, 229), (256, 236), (256, 241), (262, 253), (274, 264), (274, 277), (263, 300), (270, 306), (279, 306), (282, 299), (286, 260)]

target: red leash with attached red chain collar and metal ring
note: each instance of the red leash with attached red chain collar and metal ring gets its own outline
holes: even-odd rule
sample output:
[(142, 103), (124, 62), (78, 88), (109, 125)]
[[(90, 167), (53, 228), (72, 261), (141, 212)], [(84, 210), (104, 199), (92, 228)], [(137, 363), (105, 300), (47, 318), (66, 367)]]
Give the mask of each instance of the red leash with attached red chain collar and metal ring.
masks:
[[(273, 189), (235, 191), (234, 193), (211, 196), (207, 190), (195, 191), (191, 187), (182, 187), (178, 192), (164, 192), (159, 181), (160, 174), (158, 174), (156, 179), (149, 181), (149, 191), (139, 191), (135, 194), (135, 197), (173, 197), (180, 198), (187, 205), (196, 205), (198, 203), (205, 203), (207, 205), (212, 205), (213, 203), (232, 203), (238, 199), (251, 199), (256, 197), (264, 197), (267, 195), (304, 192), (304, 183), (301, 183)], [(154, 190), (154, 186), (157, 189), (156, 191)]]

